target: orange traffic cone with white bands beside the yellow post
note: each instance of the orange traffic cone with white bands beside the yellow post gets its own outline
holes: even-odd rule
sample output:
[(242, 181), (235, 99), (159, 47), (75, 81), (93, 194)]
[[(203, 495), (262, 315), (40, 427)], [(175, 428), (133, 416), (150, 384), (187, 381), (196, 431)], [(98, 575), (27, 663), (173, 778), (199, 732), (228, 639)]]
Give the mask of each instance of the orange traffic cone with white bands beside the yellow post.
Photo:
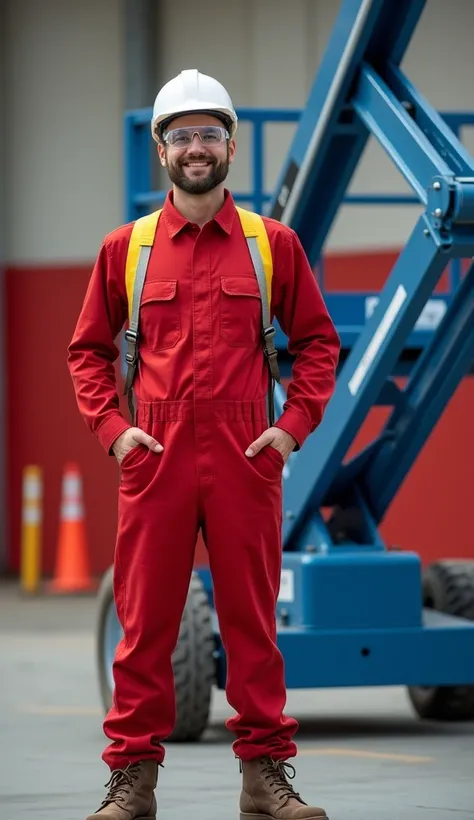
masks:
[(51, 592), (87, 592), (90, 576), (82, 500), (82, 478), (77, 464), (66, 464), (62, 483), (58, 551)]

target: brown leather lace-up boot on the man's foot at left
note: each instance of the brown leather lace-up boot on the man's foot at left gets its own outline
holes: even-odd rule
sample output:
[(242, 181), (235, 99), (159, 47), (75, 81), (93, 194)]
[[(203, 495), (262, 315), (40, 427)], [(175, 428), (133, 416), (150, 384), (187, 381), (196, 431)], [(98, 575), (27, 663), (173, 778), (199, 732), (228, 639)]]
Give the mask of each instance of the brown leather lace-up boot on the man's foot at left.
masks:
[(86, 820), (156, 820), (156, 760), (140, 760), (126, 769), (114, 769), (109, 791), (100, 809)]

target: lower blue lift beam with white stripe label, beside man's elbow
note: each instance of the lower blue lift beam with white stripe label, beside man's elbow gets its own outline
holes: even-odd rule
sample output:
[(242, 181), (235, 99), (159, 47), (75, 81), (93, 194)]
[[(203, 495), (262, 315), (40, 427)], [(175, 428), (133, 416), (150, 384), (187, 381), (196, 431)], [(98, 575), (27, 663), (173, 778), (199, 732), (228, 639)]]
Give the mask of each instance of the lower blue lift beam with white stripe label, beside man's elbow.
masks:
[[(449, 257), (442, 240), (428, 224), (424, 215), (418, 219), (380, 302), (337, 379), (322, 423), (298, 453), (291, 480), (284, 484), (283, 534), (288, 548), (324, 504), (357, 431), (446, 266)], [(301, 487), (308, 488), (306, 494), (301, 493)]]

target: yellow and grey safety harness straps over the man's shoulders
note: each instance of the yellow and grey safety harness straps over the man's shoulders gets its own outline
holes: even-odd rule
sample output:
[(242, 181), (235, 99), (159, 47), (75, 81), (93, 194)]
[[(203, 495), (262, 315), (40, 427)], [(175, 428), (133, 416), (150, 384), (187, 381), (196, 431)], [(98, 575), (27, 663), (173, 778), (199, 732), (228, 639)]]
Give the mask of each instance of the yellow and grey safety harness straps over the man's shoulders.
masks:
[[(270, 304), (272, 296), (273, 260), (265, 230), (265, 223), (259, 214), (236, 208), (240, 224), (247, 240), (250, 257), (260, 290), (262, 305), (262, 347), (269, 367), (268, 413), (270, 426), (274, 423), (274, 387), (280, 382), (280, 372), (275, 348), (275, 328), (270, 321)], [(128, 300), (128, 329), (125, 331), (127, 376), (124, 394), (128, 395), (128, 405), (132, 420), (135, 416), (133, 406), (133, 382), (138, 365), (139, 355), (139, 318), (140, 302), (145, 283), (148, 262), (155, 241), (156, 230), (161, 209), (136, 220), (128, 245), (125, 267), (125, 284)]]

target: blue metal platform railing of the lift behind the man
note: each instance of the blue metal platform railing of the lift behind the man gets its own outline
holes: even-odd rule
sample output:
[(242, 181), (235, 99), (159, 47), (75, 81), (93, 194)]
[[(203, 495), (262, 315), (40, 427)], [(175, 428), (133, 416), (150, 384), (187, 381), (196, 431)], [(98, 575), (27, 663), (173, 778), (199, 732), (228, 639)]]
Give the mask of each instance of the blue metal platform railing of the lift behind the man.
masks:
[[(236, 202), (249, 203), (257, 213), (268, 211), (272, 193), (265, 189), (265, 155), (268, 151), (268, 126), (297, 123), (301, 111), (295, 108), (238, 108), (241, 123), (250, 126), (249, 156), (251, 160), (249, 191), (233, 192)], [(462, 139), (463, 128), (474, 126), (474, 112), (447, 111), (441, 114), (453, 133)], [(150, 136), (151, 109), (130, 111), (125, 115), (125, 213), (132, 221), (159, 207), (167, 191), (153, 190), (154, 143)], [(407, 206), (420, 205), (413, 194), (347, 194), (343, 202), (350, 206)], [(374, 291), (332, 290), (325, 277), (324, 254), (317, 260), (315, 275), (336, 324), (343, 348), (350, 348), (358, 337), (376, 301)], [(425, 347), (444, 316), (453, 294), (462, 278), (462, 262), (453, 259), (447, 267), (447, 285), (442, 293), (433, 294), (417, 322), (414, 332), (407, 340), (407, 350), (419, 351)], [(286, 348), (286, 341), (277, 327), (277, 347)]]

